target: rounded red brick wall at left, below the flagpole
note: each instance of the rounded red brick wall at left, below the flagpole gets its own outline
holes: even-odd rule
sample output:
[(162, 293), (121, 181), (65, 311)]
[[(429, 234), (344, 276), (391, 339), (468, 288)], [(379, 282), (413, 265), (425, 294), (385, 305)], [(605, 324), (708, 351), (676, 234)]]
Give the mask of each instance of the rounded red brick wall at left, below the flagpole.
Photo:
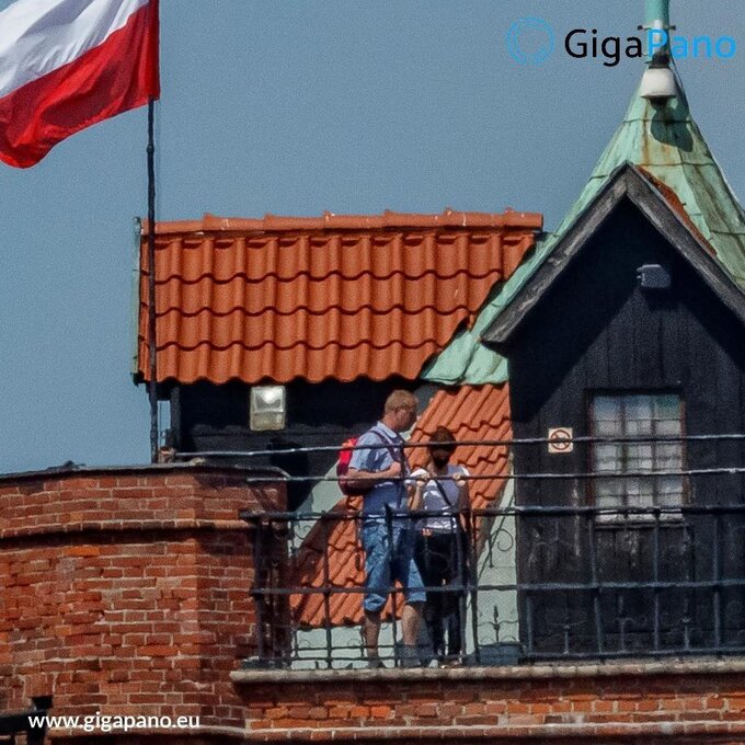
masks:
[(238, 514), (285, 506), (284, 489), (252, 475), (159, 466), (0, 479), (0, 712), (53, 696), (55, 714), (242, 726), (229, 673), (256, 630), (252, 530)]

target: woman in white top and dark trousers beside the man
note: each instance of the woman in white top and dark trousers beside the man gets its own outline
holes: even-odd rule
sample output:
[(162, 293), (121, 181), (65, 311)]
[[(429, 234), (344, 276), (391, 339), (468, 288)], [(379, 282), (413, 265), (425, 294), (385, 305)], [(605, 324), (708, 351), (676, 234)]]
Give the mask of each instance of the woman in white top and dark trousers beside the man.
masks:
[[(459, 664), (462, 653), (461, 599), (468, 558), (462, 511), (470, 502), (468, 471), (450, 463), (455, 449), (452, 433), (437, 427), (427, 444), (429, 461), (411, 473), (411, 508), (429, 513), (417, 522), (415, 559), (427, 589), (424, 620), (440, 665)], [(445, 589), (449, 586), (454, 588)]]

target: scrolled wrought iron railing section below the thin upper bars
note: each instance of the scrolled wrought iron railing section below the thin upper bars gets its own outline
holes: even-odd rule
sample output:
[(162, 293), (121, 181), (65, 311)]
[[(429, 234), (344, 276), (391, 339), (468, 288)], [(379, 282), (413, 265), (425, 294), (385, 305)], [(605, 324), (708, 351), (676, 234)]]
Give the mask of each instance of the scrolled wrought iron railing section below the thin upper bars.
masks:
[[(561, 474), (563, 477), (565, 474)], [(504, 504), (504, 502), (503, 502)], [(426, 513), (431, 516), (432, 513)], [(414, 536), (425, 513), (383, 518)], [(363, 515), (243, 513), (254, 532), (256, 654), (250, 664), (367, 664)], [(745, 505), (494, 506), (459, 515), (465, 540), (444, 585), (457, 598), (466, 665), (745, 652)], [(426, 548), (420, 562), (426, 561)], [(370, 589), (368, 587), (368, 589)], [(390, 594), (380, 656), (402, 664)], [(426, 633), (417, 655), (432, 664)], [(387, 662), (386, 662), (387, 661)]]

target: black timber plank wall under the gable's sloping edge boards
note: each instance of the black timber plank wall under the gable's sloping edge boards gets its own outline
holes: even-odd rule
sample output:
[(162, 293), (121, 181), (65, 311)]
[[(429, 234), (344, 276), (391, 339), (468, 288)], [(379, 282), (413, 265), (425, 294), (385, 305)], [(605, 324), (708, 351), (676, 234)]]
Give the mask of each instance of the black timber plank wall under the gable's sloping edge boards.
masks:
[[(668, 267), (671, 290), (642, 290), (637, 270), (643, 264)], [(512, 341), (507, 355), (514, 436), (546, 437), (548, 428), (555, 426), (573, 427), (575, 436), (589, 435), (589, 397), (603, 391), (676, 392), (684, 401), (686, 434), (743, 433), (743, 339), (740, 321), (624, 198)], [(688, 443), (685, 455), (689, 469), (745, 466), (741, 440)], [(546, 445), (515, 446), (514, 467), (518, 474), (588, 472), (589, 448), (575, 445), (571, 455), (549, 455)], [(588, 479), (518, 480), (517, 484), (517, 501), (524, 505), (583, 506), (593, 501)], [(738, 474), (690, 477), (686, 486), (686, 498), (692, 505), (743, 502)], [(658, 578), (672, 583), (711, 577), (714, 563), (732, 576), (743, 576), (745, 526), (740, 519), (714, 526), (712, 519), (688, 515), (665, 525), (656, 538), (650, 524), (601, 526), (591, 520), (592, 516), (524, 520), (518, 547), (520, 581), (589, 582), (593, 561), (601, 578), (617, 582), (649, 580), (655, 563)], [(742, 642), (738, 617), (745, 604), (740, 591), (727, 592), (723, 623), (731, 638)], [(597, 632), (586, 622), (593, 616), (591, 595), (554, 593), (540, 601), (534, 598), (531, 643), (557, 651), (571, 638), (575, 651), (594, 649)], [(601, 626), (611, 646), (619, 643), (620, 616), (628, 621), (623, 644), (646, 647), (651, 643), (650, 593), (606, 593), (600, 599)], [(524, 621), (525, 601), (523, 594)], [(711, 593), (666, 593), (662, 643), (680, 641), (684, 615), (691, 632), (706, 637), (711, 631), (712, 608)]]

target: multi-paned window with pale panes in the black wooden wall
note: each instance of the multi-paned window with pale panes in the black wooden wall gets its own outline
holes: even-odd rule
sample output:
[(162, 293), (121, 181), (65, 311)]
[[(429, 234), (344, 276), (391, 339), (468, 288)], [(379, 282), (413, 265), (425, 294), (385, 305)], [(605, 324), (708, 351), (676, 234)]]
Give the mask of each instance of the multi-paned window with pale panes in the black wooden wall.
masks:
[[(598, 507), (675, 507), (683, 503), (684, 478), (645, 475), (646, 472), (681, 471), (684, 463), (683, 400), (676, 393), (598, 393), (589, 403), (595, 437), (628, 438), (620, 443), (594, 443), (593, 472)], [(667, 442), (655, 438), (671, 438)], [(638, 442), (633, 442), (638, 438)], [(618, 474), (629, 473), (623, 477)], [(633, 474), (633, 475), (631, 475)]]

